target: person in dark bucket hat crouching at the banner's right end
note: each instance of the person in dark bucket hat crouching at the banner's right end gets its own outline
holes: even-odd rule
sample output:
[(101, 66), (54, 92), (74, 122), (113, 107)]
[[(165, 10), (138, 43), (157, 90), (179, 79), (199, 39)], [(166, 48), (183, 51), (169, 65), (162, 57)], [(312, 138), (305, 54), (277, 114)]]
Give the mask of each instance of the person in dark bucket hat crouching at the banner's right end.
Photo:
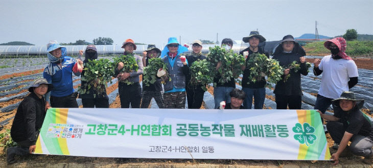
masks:
[[(320, 113), (320, 116), (329, 120), (327, 129), (335, 143), (339, 144), (336, 153), (331, 159), (334, 165), (338, 164), (340, 154), (347, 148), (353, 154), (364, 156), (364, 163), (372, 164), (373, 156), (373, 127), (369, 117), (360, 109), (364, 100), (355, 98), (355, 93), (344, 91), (340, 98), (332, 100), (334, 115)], [(351, 145), (347, 147), (348, 142)]]

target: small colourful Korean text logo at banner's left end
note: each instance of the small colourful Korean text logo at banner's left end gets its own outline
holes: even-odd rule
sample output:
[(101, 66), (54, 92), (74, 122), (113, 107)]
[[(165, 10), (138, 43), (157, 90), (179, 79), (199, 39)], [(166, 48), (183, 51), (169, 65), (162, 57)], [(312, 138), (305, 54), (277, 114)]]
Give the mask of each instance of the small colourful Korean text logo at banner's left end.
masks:
[(74, 124), (50, 124), (46, 137), (82, 138), (83, 126)]

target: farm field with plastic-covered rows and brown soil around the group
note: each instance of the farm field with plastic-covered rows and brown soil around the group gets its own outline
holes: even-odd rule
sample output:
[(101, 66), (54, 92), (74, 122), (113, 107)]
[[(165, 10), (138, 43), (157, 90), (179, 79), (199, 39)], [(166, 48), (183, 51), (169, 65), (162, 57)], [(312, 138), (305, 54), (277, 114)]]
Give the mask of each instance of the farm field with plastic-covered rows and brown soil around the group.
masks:
[[(105, 57), (107, 58), (107, 57)], [(307, 62), (313, 62), (314, 58), (308, 58)], [(364, 99), (365, 105), (363, 112), (370, 117), (373, 110), (373, 59), (371, 58), (356, 58), (354, 59), (359, 68), (359, 83), (351, 90), (357, 93), (357, 98)], [(26, 63), (24, 63), (26, 62)], [(16, 112), (17, 105), (28, 94), (28, 86), (36, 78), (42, 77), (42, 70), (48, 59), (45, 58), (25, 58), (25, 59), (0, 59), (0, 65), (12, 67), (0, 68), (0, 133), (11, 128), (13, 117)], [(29, 66), (27, 66), (29, 65)], [(313, 68), (313, 67), (311, 67)], [(310, 68), (310, 69), (311, 69)], [(74, 88), (77, 89), (80, 85), (80, 77), (73, 76)], [(308, 76), (302, 76), (302, 108), (313, 109), (314, 101), (321, 76), (315, 77), (312, 69)], [(241, 88), (240, 85), (236, 86)], [(110, 108), (120, 108), (118, 96), (118, 83), (116, 79), (112, 80), (112, 84), (108, 84), (107, 94), (109, 95)], [(214, 106), (213, 88), (209, 87), (204, 95), (204, 103), (201, 109), (211, 109)], [(271, 89), (266, 90), (265, 109), (274, 109), (274, 94)], [(81, 100), (78, 99), (78, 104), (81, 107)], [(155, 101), (149, 108), (157, 108)], [(332, 112), (329, 110), (329, 112)], [(333, 140), (327, 134), (328, 145), (333, 145)], [(333, 150), (332, 150), (333, 151)], [(124, 151), (125, 152), (125, 151)], [(5, 155), (3, 149), (0, 148), (0, 167), (6, 167)], [(73, 166), (73, 164), (86, 164), (88, 167), (93, 165), (101, 165), (102, 167), (183, 167), (183, 166), (198, 166), (198, 167), (228, 167), (228, 166), (268, 166), (268, 167), (283, 167), (283, 166), (302, 166), (302, 167), (323, 167), (329, 166), (329, 162), (325, 161), (282, 161), (282, 160), (206, 160), (206, 159), (141, 159), (141, 158), (97, 158), (97, 157), (72, 157), (72, 156), (53, 156), (53, 155), (33, 155), (28, 158), (18, 158), (18, 162), (12, 166), (18, 167), (41, 167), (51, 166), (54, 164), (63, 164)], [(92, 166), (89, 166), (92, 165)], [(348, 167), (363, 167), (361, 157), (347, 156), (341, 158), (341, 164)], [(365, 165), (367, 166), (367, 165)]]

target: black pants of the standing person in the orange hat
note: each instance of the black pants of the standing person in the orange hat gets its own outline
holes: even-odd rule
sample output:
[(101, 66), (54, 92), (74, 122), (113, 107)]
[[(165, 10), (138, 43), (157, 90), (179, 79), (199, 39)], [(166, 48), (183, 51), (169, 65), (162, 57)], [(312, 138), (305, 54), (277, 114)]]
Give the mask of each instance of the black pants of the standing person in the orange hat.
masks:
[(121, 108), (140, 108), (141, 102), (141, 86), (138, 82), (127, 85), (125, 83), (119, 83), (119, 98), (121, 99)]

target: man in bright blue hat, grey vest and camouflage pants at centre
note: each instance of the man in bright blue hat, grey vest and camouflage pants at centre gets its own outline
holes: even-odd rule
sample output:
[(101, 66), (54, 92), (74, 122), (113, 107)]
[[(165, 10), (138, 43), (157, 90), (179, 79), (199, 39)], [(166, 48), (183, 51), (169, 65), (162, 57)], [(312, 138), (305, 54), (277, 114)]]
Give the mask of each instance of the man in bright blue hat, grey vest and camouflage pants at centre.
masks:
[[(164, 53), (164, 51), (167, 52)], [(164, 84), (165, 108), (185, 108), (185, 83), (189, 67), (188, 60), (184, 56), (180, 56), (184, 51), (188, 51), (188, 49), (180, 45), (176, 37), (170, 37), (162, 51), (162, 54), (165, 54), (162, 60), (167, 64), (167, 70), (171, 77), (171, 81), (166, 81)], [(158, 69), (158, 71), (159, 77), (165, 74), (164, 69)]]

